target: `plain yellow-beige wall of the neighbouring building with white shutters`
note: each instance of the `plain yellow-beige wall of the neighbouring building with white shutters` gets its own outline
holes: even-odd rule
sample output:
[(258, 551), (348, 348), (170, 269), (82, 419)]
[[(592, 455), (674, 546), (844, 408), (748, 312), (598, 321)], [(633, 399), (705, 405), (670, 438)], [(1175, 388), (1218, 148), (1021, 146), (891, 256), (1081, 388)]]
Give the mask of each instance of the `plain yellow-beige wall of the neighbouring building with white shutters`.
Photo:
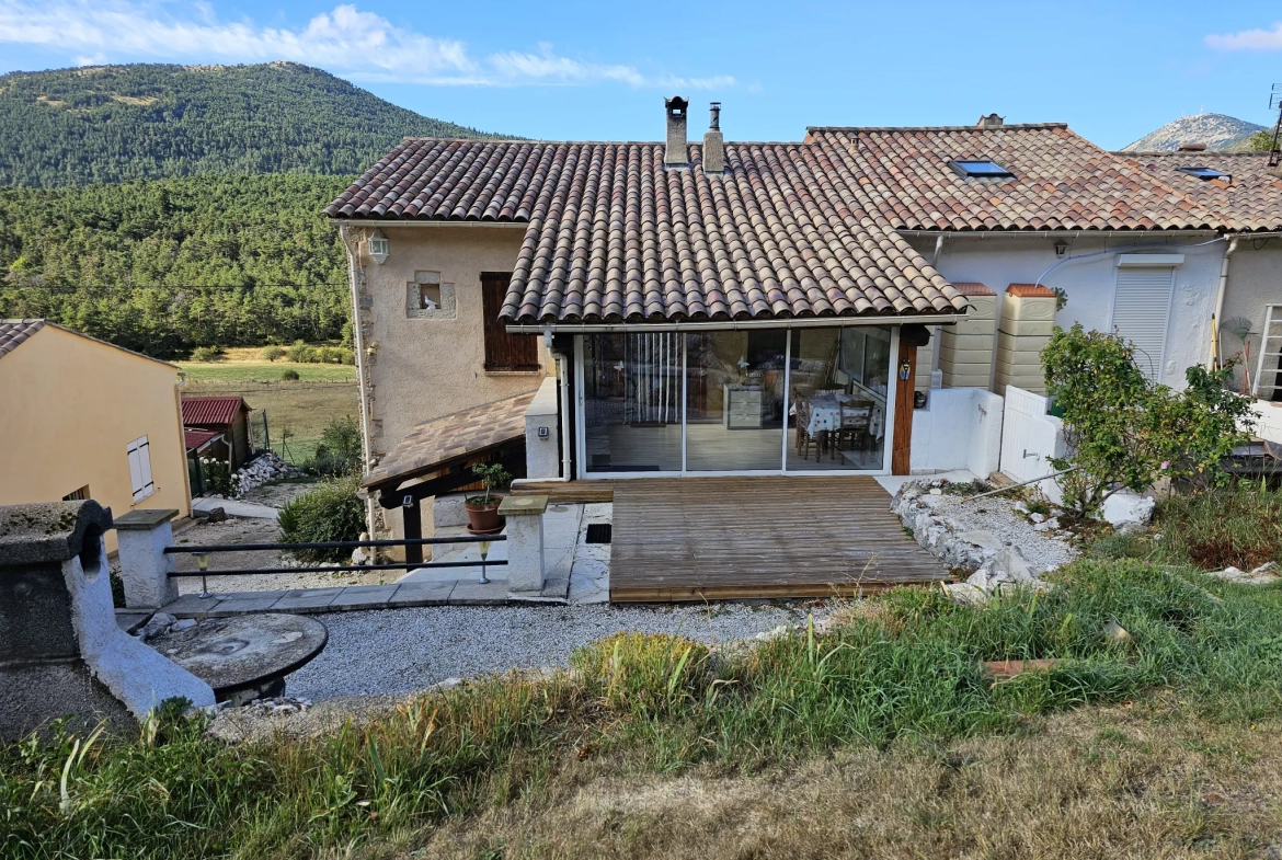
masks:
[[(58, 501), (88, 484), (119, 517), (191, 514), (177, 368), (45, 326), (0, 358), (0, 505)], [(133, 504), (126, 449), (146, 436), (156, 491)], [(115, 533), (106, 537), (115, 550)]]

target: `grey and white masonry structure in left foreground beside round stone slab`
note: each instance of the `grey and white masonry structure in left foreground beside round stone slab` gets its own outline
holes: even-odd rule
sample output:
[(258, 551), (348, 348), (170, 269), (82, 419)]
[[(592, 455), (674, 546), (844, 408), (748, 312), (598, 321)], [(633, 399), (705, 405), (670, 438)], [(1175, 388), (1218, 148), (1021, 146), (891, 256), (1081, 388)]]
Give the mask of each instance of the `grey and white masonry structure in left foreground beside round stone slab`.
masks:
[(0, 738), (58, 716), (142, 720), (167, 699), (213, 705), (200, 678), (115, 624), (96, 501), (0, 506)]

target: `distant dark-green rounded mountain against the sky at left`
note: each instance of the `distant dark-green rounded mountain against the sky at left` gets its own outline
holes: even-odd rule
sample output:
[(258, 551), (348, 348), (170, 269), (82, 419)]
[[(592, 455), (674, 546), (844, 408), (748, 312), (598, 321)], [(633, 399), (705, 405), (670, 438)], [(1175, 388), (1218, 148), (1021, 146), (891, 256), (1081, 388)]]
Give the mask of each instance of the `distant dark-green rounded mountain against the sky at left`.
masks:
[(201, 173), (355, 174), (406, 135), (492, 137), (297, 63), (0, 76), (0, 186)]

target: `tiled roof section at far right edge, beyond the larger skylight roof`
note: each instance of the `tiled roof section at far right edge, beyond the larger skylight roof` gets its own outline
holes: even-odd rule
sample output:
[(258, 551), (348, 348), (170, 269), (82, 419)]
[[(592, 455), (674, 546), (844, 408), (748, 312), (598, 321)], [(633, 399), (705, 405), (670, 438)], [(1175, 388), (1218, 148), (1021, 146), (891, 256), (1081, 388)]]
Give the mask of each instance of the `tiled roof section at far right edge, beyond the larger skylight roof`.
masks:
[[(1214, 209), (1235, 231), (1282, 231), (1282, 177), (1269, 169), (1268, 153), (1118, 153), (1140, 169)], [(1185, 173), (1209, 167), (1233, 177), (1226, 183)]]

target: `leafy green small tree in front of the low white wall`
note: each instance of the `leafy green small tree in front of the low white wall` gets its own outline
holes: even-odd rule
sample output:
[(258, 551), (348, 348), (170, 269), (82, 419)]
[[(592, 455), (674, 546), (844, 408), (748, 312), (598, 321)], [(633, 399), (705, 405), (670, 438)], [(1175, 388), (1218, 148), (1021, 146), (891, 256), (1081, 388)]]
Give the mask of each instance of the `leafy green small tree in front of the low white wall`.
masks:
[(1151, 383), (1120, 336), (1059, 327), (1042, 350), (1046, 391), (1064, 418), (1068, 456), (1053, 458), (1064, 504), (1088, 517), (1119, 490), (1163, 477), (1218, 479), (1246, 429), (1250, 404), (1223, 387), (1227, 370), (1188, 368), (1182, 392)]

